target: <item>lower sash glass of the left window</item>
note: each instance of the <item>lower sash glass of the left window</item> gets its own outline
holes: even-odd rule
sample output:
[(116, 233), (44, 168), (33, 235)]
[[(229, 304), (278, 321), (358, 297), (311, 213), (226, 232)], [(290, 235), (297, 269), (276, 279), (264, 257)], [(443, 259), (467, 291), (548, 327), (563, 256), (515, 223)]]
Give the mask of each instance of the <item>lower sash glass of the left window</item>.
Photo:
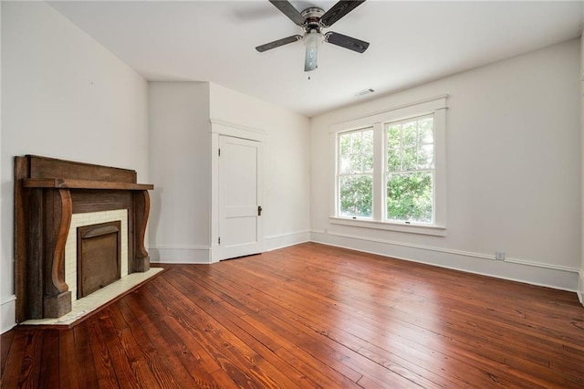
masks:
[(341, 177), (340, 189), (340, 215), (371, 217), (373, 177), (359, 175)]

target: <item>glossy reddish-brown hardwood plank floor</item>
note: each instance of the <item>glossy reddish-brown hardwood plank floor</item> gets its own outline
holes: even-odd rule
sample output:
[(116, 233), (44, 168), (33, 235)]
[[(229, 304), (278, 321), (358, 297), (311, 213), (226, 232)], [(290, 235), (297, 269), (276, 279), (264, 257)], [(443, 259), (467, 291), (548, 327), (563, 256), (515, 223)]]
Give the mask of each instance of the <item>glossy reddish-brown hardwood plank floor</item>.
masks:
[(2, 335), (2, 387), (584, 387), (576, 294), (314, 243), (174, 265), (72, 330)]

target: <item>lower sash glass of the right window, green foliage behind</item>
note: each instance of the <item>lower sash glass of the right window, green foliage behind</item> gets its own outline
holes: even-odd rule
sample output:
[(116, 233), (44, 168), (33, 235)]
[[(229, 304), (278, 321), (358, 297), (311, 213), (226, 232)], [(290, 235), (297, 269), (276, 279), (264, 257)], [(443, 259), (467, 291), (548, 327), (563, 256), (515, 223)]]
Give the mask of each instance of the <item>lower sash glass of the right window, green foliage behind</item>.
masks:
[(387, 179), (389, 220), (432, 223), (433, 173), (397, 173)]

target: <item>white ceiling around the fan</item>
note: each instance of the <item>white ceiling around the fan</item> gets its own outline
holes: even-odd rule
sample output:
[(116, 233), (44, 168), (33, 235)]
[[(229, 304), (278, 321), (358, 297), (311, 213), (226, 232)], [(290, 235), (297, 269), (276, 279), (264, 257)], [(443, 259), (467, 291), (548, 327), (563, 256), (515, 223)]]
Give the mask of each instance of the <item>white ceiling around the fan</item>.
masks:
[(327, 30), (369, 49), (324, 44), (318, 69), (305, 73), (302, 43), (255, 51), (300, 33), (267, 0), (49, 4), (146, 79), (211, 81), (308, 117), (579, 37), (583, 20), (580, 1), (370, 0)]

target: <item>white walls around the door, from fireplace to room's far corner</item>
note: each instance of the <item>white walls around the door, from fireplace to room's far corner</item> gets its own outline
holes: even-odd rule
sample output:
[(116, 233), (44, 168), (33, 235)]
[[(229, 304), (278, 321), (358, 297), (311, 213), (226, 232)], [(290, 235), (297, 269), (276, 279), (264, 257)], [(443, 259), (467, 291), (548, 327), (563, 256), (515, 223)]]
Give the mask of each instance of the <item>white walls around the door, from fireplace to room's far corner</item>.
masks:
[(262, 133), (265, 249), (309, 240), (308, 119), (206, 82), (151, 82), (152, 262), (209, 263), (212, 122)]

